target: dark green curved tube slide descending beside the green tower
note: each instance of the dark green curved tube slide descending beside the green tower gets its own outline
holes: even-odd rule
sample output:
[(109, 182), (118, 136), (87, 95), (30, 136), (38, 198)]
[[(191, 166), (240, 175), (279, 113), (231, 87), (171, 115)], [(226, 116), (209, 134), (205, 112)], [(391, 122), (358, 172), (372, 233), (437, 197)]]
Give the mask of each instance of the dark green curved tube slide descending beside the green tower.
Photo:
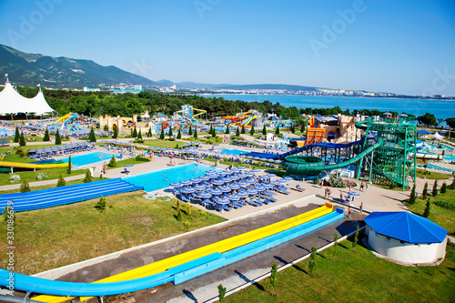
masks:
[(372, 146), (369, 146), (364, 151), (359, 153), (356, 157), (351, 157), (349, 160), (335, 163), (335, 164), (325, 164), (323, 161), (318, 162), (305, 162), (305, 156), (290, 156), (283, 160), (281, 166), (286, 169), (289, 174), (296, 176), (316, 176), (324, 170), (337, 169), (341, 167), (348, 167), (351, 164), (356, 163), (361, 158), (369, 155), (376, 148), (380, 146), (380, 143), (376, 143)]

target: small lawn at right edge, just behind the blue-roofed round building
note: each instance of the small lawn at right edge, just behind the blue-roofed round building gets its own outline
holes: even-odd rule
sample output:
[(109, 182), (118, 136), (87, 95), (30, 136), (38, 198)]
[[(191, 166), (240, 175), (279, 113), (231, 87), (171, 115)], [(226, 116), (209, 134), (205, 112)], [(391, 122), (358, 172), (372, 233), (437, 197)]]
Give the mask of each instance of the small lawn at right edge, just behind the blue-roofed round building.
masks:
[[(450, 183), (449, 183), (450, 184)], [(429, 188), (431, 189), (432, 184), (429, 184)], [(418, 193), (419, 197), (421, 193)], [(433, 202), (434, 201), (450, 201), (453, 203), (455, 201), (455, 189), (447, 189), (445, 194), (439, 194), (436, 197), (430, 197), (431, 207), (430, 207), (430, 217), (429, 219), (434, 223), (440, 225), (441, 227), (446, 228), (449, 230), (450, 233), (455, 233), (455, 210), (446, 209), (444, 207), (438, 207)], [(426, 201), (423, 199), (417, 198), (416, 204), (410, 205), (406, 204), (410, 211), (415, 214), (423, 215), (423, 211), (426, 207)]]

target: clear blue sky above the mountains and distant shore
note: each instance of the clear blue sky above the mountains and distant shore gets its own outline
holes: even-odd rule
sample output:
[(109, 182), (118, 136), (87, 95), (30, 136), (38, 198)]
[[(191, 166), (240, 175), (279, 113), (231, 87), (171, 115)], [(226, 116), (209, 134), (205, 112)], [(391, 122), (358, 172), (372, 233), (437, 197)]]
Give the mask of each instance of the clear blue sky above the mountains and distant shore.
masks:
[(0, 44), (152, 80), (455, 96), (453, 0), (0, 0), (0, 14)]

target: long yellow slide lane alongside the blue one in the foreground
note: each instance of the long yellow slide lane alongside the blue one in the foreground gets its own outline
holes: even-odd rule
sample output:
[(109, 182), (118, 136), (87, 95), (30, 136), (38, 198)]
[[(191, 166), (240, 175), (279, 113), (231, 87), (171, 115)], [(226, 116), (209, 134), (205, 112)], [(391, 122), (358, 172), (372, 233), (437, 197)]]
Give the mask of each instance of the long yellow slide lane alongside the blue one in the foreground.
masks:
[[(332, 210), (333, 205), (330, 203), (326, 203), (324, 207), (319, 207), (310, 210), (296, 217), (290, 217), (286, 220), (268, 225), (267, 227), (261, 227), (255, 230), (251, 230), (248, 231), (247, 233), (235, 237), (229, 237), (227, 239), (215, 242), (213, 244), (209, 244), (205, 247), (199, 247), (170, 258), (165, 258), (163, 260), (159, 260), (157, 262), (148, 264), (141, 268), (131, 269), (121, 274), (117, 274), (108, 278), (103, 278), (95, 281), (94, 283), (126, 281), (135, 278), (144, 278), (147, 276), (155, 275), (164, 272), (169, 268), (177, 267), (178, 265), (182, 265), (189, 261), (193, 261), (197, 258), (202, 258), (217, 252), (223, 253), (236, 247), (241, 247), (248, 243), (257, 241), (261, 238), (278, 234), (279, 232), (287, 230), (291, 227), (297, 227), (298, 225), (304, 224), (310, 220), (327, 215), (330, 212), (332, 212)], [(33, 299), (41, 302), (57, 303), (67, 301), (72, 298), (57, 296), (38, 296)], [(84, 301), (86, 299), (88, 298), (86, 297), (80, 298), (81, 301)]]

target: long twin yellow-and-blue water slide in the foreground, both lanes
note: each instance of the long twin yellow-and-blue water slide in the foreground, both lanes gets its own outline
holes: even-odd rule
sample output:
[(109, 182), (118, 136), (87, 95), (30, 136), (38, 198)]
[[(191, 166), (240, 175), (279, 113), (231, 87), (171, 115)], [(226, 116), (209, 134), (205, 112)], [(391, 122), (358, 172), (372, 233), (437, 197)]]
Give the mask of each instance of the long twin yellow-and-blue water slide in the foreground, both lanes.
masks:
[[(240, 259), (258, 254), (270, 247), (304, 235), (343, 217), (343, 210), (326, 203), (296, 217), (261, 227), (247, 233), (199, 247), (185, 253), (162, 259), (147, 266), (132, 269), (94, 283), (75, 283), (34, 278), (14, 274), (15, 289), (54, 296), (38, 296), (34, 300), (63, 302), (71, 297), (107, 296), (163, 285), (182, 283), (209, 271), (222, 268)], [(0, 285), (7, 286), (10, 272), (0, 269)]]

